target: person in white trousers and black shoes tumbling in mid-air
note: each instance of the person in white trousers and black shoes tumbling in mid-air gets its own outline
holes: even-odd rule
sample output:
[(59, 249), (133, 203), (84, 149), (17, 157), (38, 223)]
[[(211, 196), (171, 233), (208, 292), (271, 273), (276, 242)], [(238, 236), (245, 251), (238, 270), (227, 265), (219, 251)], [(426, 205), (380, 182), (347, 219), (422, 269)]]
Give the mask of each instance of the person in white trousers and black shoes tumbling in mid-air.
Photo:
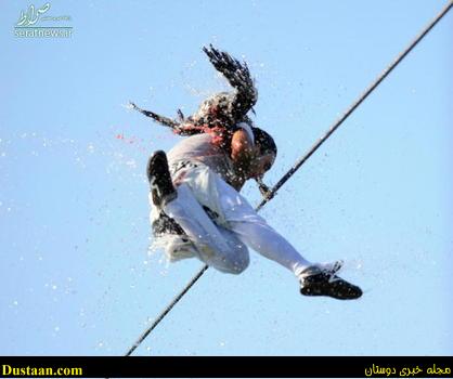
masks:
[(151, 116), (187, 135), (168, 154), (157, 151), (148, 159), (156, 240), (171, 262), (197, 258), (230, 274), (247, 269), (253, 249), (293, 272), (305, 296), (360, 298), (362, 290), (336, 274), (341, 261), (308, 261), (240, 194), (248, 180), (256, 180), (266, 194), (263, 175), (273, 166), (277, 147), (247, 116), (257, 102), (247, 65), (212, 45), (204, 51), (234, 91), (210, 96), (186, 119), (180, 113), (179, 122)]

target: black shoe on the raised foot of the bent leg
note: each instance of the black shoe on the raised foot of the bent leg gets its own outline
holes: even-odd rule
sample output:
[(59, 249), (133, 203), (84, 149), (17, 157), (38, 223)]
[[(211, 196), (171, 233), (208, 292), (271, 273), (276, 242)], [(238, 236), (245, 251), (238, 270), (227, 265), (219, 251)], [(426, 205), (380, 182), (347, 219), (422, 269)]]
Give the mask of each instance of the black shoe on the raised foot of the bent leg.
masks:
[(147, 161), (146, 173), (151, 185), (153, 204), (156, 207), (161, 208), (177, 197), (165, 152), (158, 151), (151, 156)]

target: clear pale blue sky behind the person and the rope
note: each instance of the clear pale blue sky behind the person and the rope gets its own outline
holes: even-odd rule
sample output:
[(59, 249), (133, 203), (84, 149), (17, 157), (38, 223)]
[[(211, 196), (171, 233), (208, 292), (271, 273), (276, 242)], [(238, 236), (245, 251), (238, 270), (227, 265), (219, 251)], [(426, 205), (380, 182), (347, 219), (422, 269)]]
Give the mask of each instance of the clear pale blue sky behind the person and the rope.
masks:
[[(228, 88), (202, 47), (246, 58), (272, 184), (445, 1), (52, 1), (72, 38), (15, 38), (29, 4), (0, 13), (2, 355), (121, 355), (202, 266), (147, 251), (146, 160), (178, 138), (128, 101), (191, 114)], [(262, 210), (308, 259), (345, 259), (363, 298), (302, 298), (253, 252), (240, 276), (208, 270), (135, 354), (453, 354), (452, 26)]]

